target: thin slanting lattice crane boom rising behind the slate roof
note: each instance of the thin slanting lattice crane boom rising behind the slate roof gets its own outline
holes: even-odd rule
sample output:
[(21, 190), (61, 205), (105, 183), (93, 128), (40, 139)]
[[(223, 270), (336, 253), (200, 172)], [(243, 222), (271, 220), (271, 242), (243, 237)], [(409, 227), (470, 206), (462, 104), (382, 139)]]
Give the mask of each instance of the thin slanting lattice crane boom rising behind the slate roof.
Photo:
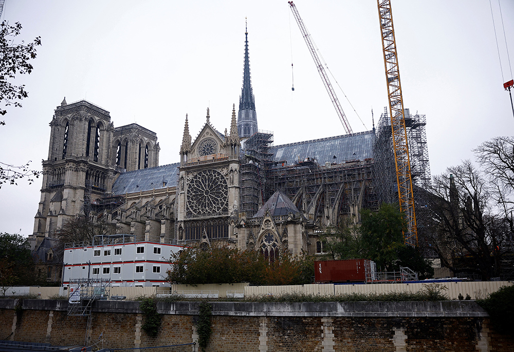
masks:
[(328, 96), (332, 100), (332, 104), (334, 104), (334, 107), (336, 108), (337, 115), (339, 116), (339, 120), (341, 120), (341, 123), (344, 127), (344, 131), (346, 131), (347, 134), (353, 134), (352, 127), (350, 127), (350, 124), (348, 123), (348, 120), (346, 119), (346, 115), (344, 115), (343, 108), (341, 107), (341, 104), (339, 104), (339, 100), (337, 99), (336, 92), (334, 91), (334, 88), (332, 87), (332, 84), (330, 83), (330, 80), (328, 79), (328, 75), (325, 72), (325, 69), (323, 68), (323, 65), (321, 64), (321, 61), (318, 57), (318, 54), (316, 52), (316, 49), (313, 45), (313, 42), (310, 40), (310, 34), (307, 31), (307, 28), (305, 27), (305, 24), (302, 21), (302, 18), (300, 17), (300, 13), (298, 13), (298, 10), (293, 4), (292, 1), (288, 2), (289, 6), (291, 7), (291, 11), (293, 15), (295, 16), (296, 22), (298, 23), (298, 27), (300, 27), (300, 31), (302, 32), (303, 39), (305, 40), (305, 43), (307, 44), (307, 47), (309, 48), (310, 54), (312, 55), (314, 62), (316, 64), (316, 67), (318, 68), (318, 72), (321, 76), (321, 80), (323, 81), (323, 84), (325, 85), (326, 91), (328, 92)]

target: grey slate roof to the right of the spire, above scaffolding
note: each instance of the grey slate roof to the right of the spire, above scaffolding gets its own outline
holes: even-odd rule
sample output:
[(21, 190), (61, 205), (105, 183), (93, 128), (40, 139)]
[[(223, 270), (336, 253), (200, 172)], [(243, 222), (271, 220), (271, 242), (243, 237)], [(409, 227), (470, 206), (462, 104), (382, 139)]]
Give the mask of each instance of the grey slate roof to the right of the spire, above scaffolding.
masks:
[[(320, 165), (325, 162), (343, 162), (364, 160), (373, 157), (375, 133), (366, 131), (353, 135), (328, 137), (305, 142), (275, 145), (270, 147), (275, 162), (286, 161), (292, 165), (304, 161), (307, 157), (316, 158)], [(334, 158), (334, 156), (336, 156)]]

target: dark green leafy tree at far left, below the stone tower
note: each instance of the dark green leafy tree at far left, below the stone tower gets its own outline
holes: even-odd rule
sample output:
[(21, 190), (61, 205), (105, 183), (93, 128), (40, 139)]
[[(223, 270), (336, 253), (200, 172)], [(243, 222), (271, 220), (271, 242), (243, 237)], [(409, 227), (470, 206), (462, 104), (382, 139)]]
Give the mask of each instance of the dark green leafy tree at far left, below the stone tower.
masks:
[(0, 287), (3, 294), (12, 285), (33, 285), (40, 277), (34, 270), (34, 262), (28, 244), (21, 235), (0, 233)]

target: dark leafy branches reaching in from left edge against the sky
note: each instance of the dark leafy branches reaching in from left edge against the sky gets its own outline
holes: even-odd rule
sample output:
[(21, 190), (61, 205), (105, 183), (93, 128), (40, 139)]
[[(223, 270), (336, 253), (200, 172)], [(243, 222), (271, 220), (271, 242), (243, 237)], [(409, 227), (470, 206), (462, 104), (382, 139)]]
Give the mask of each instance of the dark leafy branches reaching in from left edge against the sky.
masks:
[[(15, 23), (9, 25), (6, 21), (0, 24), (0, 103), (4, 106), (22, 106), (20, 101), (27, 98), (25, 85), (15, 85), (12, 80), (16, 75), (23, 75), (32, 72), (30, 60), (36, 57), (36, 46), (41, 45), (41, 37), (33, 42), (19, 44), (15, 43), (15, 37), (20, 34), (22, 25)], [(0, 108), (0, 115), (7, 114), (7, 110)], [(0, 121), (5, 125), (5, 121)], [(27, 178), (29, 184), (38, 177), (40, 172), (30, 170), (28, 165), (17, 166), (0, 162), (0, 188), (4, 183), (16, 184), (16, 180)]]

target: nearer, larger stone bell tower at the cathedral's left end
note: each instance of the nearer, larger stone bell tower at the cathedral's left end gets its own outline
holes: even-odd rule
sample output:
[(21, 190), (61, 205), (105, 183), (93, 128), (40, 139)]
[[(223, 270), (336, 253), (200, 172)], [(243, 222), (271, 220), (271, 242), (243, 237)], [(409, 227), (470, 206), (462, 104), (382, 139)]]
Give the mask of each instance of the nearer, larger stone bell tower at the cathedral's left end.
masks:
[(91, 202), (110, 192), (116, 174), (109, 112), (85, 100), (55, 110), (48, 159), (33, 235), (53, 236), (75, 215), (88, 216)]

